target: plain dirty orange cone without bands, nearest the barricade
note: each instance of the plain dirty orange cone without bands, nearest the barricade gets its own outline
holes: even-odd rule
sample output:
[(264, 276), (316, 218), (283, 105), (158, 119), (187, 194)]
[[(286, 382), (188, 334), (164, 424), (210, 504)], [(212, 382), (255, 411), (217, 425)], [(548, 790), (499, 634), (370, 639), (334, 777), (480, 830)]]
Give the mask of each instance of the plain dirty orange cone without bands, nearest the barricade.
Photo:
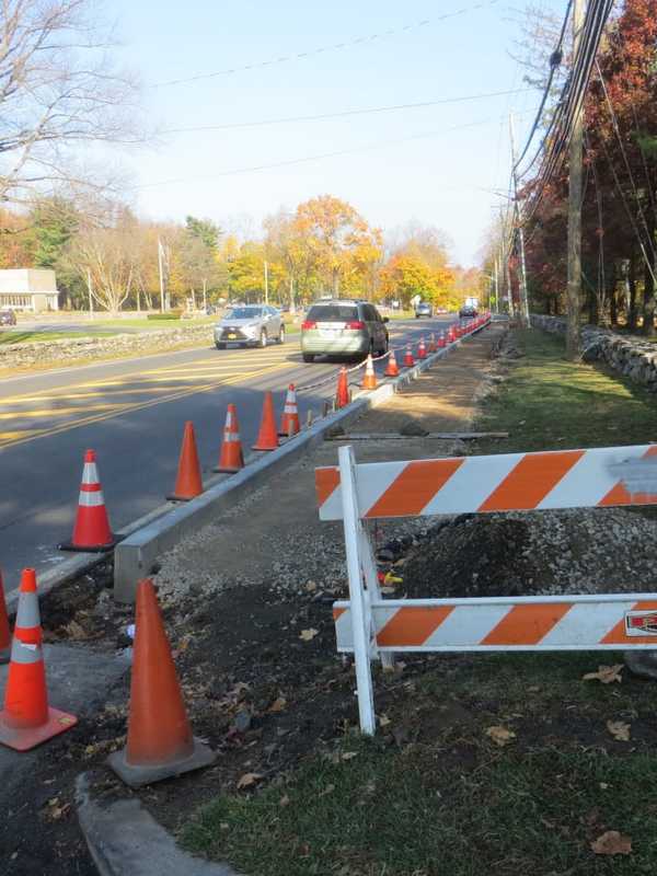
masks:
[(128, 739), (107, 759), (130, 787), (207, 766), (216, 758), (192, 736), (162, 614), (150, 578), (137, 584)]

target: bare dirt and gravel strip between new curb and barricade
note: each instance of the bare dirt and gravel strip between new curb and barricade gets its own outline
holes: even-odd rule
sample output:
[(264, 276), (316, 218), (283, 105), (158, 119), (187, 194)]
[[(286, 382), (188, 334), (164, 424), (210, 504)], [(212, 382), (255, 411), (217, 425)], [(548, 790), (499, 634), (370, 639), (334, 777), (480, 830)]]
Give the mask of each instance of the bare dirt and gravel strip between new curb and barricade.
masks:
[[(425, 430), (466, 430), (475, 396), (502, 328), (494, 326), (440, 361), (406, 393), (362, 417), (354, 430), (396, 433), (408, 418)], [(140, 793), (155, 817), (176, 829), (199, 804), (240, 777), (276, 781), (300, 757), (357, 724), (350, 662), (335, 652), (331, 603), (345, 593), (344, 540), (321, 523), (314, 469), (334, 464), (339, 441), (278, 474), (216, 525), (162, 558), (154, 576), (189, 716), (197, 736), (219, 752), (215, 766)], [(359, 442), (359, 460), (418, 459), (453, 453), (453, 441), (427, 438)], [(372, 531), (380, 549), (406, 552), (427, 535), (422, 520), (385, 522)], [(401, 554), (400, 554), (401, 555)], [(382, 564), (387, 567), (387, 564)], [(48, 641), (113, 653), (129, 648), (130, 609), (111, 598), (111, 567), (97, 569), (42, 601)], [(422, 671), (413, 661), (406, 672)], [(378, 702), (403, 698), (403, 676), (382, 678)], [(19, 791), (0, 827), (8, 874), (94, 873), (72, 803), (76, 775), (92, 769), (107, 795), (130, 794), (104, 768), (125, 744), (128, 679), (100, 715), (46, 746), (33, 782)], [(56, 781), (53, 819), (50, 785)]]

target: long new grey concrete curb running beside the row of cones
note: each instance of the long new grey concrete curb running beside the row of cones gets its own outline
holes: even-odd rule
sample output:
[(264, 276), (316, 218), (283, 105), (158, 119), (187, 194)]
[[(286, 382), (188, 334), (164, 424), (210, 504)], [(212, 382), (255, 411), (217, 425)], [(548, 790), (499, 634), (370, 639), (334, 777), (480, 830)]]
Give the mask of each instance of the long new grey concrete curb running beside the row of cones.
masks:
[(216, 486), (210, 486), (192, 502), (174, 508), (170, 514), (159, 515), (152, 523), (135, 531), (114, 550), (114, 598), (118, 602), (134, 602), (137, 581), (151, 574), (153, 564), (162, 553), (174, 548), (185, 535), (216, 521), (222, 510), (232, 507), (257, 489), (270, 474), (296, 461), (308, 449), (320, 443), (326, 431), (338, 424), (345, 426), (370, 407), (382, 404), (397, 391), (399, 387), (415, 380), (435, 361), (448, 356), (463, 341), (487, 325), (488, 323), (485, 323), (470, 335), (464, 335), (448, 347), (427, 356), (400, 377), (387, 380), (376, 390), (359, 394), (348, 407), (324, 417), (286, 441), (278, 450), (264, 454), (238, 474), (229, 475)]

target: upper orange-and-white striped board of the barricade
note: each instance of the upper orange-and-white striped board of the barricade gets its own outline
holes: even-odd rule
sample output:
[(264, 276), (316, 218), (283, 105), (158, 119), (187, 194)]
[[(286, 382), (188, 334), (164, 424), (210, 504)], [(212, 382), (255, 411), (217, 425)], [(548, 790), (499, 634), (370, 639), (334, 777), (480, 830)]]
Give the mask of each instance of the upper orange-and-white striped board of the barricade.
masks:
[[(362, 518), (657, 504), (657, 446), (356, 465)], [(320, 518), (343, 517), (338, 468), (315, 470)]]

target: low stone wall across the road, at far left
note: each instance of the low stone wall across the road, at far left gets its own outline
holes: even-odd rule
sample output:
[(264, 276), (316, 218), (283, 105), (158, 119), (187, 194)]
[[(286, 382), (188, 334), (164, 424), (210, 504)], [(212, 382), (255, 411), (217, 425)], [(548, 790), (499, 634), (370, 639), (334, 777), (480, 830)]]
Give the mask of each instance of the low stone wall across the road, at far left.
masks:
[(46, 362), (78, 359), (113, 359), (140, 353), (165, 353), (184, 346), (212, 346), (212, 325), (181, 325), (153, 332), (112, 335), (110, 337), (67, 337), (26, 344), (0, 344), (0, 369), (25, 368)]

